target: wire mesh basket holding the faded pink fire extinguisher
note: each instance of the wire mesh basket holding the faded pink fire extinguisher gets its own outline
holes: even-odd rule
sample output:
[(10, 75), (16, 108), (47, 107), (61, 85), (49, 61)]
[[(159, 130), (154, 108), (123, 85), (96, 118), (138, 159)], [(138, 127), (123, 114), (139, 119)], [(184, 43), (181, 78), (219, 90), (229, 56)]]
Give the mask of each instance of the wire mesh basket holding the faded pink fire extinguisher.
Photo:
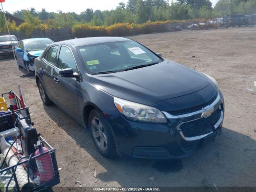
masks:
[(1, 192), (33, 192), (60, 182), (55, 150), (44, 141), (35, 154), (12, 157), (12, 165), (0, 171)]

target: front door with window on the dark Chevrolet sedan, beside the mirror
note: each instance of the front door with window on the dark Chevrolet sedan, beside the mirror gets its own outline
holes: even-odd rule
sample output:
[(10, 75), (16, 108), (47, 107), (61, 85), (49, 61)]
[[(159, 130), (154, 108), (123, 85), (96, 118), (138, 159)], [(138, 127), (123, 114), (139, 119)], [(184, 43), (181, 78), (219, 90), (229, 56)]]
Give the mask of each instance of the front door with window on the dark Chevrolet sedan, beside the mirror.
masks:
[[(67, 46), (61, 46), (58, 54), (58, 69), (66, 68), (72, 68), (74, 73), (79, 73), (72, 50)], [(54, 80), (58, 105), (76, 120), (82, 122), (80, 80), (61, 77), (58, 73), (54, 74)]]

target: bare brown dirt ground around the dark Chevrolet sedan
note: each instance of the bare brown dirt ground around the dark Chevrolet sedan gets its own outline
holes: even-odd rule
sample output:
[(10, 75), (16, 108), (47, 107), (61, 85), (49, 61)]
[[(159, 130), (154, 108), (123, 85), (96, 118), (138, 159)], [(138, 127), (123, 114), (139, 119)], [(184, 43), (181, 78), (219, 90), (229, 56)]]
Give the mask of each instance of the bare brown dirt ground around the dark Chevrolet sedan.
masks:
[[(256, 186), (256, 28), (182, 31), (130, 37), (214, 77), (225, 99), (223, 134), (182, 160), (103, 158), (89, 131), (56, 106), (44, 106), (34, 77), (0, 59), (0, 92), (20, 82), (35, 128), (56, 148), (59, 187)], [(97, 178), (94, 177), (96, 171)], [(151, 178), (152, 180), (150, 180)]]

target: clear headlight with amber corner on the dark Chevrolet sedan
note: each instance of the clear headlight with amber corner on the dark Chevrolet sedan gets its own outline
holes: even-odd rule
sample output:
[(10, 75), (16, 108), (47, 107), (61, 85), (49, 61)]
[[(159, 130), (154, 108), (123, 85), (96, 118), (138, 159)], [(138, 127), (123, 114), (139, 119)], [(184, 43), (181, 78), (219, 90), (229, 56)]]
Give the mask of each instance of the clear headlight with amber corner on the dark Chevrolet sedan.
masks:
[(133, 121), (150, 122), (150, 123), (166, 123), (164, 114), (147, 105), (142, 105), (114, 97), (114, 103), (118, 111)]

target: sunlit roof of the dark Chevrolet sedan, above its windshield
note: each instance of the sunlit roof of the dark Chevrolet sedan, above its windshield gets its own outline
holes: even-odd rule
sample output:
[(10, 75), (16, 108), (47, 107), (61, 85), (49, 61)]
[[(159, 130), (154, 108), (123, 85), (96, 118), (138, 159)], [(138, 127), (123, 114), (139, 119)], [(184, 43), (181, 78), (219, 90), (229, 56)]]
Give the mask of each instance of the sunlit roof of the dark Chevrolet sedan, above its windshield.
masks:
[(108, 43), (108, 42), (118, 42), (118, 41), (131, 41), (127, 38), (122, 37), (86, 37), (86, 38), (76, 38), (70, 40), (64, 40), (60, 42), (55, 42), (54, 44), (73, 44), (76, 47), (84, 46), (84, 45), (92, 45), (99, 43)]

